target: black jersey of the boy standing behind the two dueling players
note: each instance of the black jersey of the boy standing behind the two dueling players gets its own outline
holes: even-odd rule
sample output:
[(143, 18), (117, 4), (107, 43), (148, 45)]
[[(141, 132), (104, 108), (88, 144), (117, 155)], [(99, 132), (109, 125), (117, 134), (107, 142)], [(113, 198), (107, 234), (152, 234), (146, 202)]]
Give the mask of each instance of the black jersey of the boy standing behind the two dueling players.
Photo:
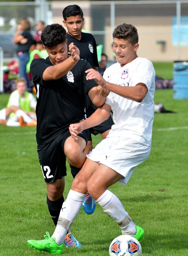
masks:
[[(78, 40), (67, 33), (67, 46), (72, 42), (79, 48), (80, 58), (87, 60), (92, 67), (98, 67), (96, 41), (92, 34), (81, 32), (81, 40)], [(68, 55), (70, 56), (70, 52)]]

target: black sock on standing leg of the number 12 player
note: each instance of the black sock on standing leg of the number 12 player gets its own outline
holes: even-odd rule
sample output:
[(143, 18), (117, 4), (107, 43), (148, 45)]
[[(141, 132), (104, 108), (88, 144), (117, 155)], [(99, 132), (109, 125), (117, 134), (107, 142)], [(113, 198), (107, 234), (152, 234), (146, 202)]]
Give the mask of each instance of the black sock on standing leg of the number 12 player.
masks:
[(59, 198), (58, 200), (56, 201), (51, 201), (49, 198), (48, 198), (48, 195), (46, 196), (46, 202), (48, 204), (48, 210), (50, 212), (50, 216), (55, 224), (55, 226), (57, 225), (57, 221), (58, 221), (58, 218), (59, 218), (59, 213), (61, 211), (61, 207), (62, 207), (62, 204), (64, 202), (64, 198), (63, 198), (63, 195), (61, 196), (61, 198)]

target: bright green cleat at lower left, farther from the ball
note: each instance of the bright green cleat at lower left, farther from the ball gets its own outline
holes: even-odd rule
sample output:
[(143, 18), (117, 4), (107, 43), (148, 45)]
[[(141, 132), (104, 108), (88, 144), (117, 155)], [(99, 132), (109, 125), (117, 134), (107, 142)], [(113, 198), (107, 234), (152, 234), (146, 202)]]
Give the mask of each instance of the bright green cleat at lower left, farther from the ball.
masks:
[(28, 240), (27, 244), (38, 251), (49, 252), (51, 254), (63, 253), (63, 243), (62, 245), (57, 245), (55, 238), (50, 237), (48, 232), (46, 232), (44, 237), (45, 239), (43, 240)]

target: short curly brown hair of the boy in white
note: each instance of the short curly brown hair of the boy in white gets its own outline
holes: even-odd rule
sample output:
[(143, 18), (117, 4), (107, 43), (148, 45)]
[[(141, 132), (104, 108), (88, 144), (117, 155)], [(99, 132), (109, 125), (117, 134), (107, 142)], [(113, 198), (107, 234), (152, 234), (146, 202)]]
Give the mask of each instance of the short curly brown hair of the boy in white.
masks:
[(138, 43), (138, 31), (133, 25), (123, 23), (114, 29), (113, 38), (129, 40), (131, 45), (135, 45)]

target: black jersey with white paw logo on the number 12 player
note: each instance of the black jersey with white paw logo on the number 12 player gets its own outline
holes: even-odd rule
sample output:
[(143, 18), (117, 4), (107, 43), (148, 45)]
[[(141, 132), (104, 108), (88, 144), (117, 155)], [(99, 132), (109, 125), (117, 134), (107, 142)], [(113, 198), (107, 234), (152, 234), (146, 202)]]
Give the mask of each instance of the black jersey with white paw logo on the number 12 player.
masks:
[(85, 70), (91, 65), (85, 60), (79, 62), (66, 75), (57, 80), (44, 81), (44, 70), (53, 65), (49, 57), (34, 59), (31, 74), (37, 92), (37, 143), (44, 144), (62, 132), (70, 124), (85, 116), (85, 94), (94, 86), (94, 80), (86, 80)]

